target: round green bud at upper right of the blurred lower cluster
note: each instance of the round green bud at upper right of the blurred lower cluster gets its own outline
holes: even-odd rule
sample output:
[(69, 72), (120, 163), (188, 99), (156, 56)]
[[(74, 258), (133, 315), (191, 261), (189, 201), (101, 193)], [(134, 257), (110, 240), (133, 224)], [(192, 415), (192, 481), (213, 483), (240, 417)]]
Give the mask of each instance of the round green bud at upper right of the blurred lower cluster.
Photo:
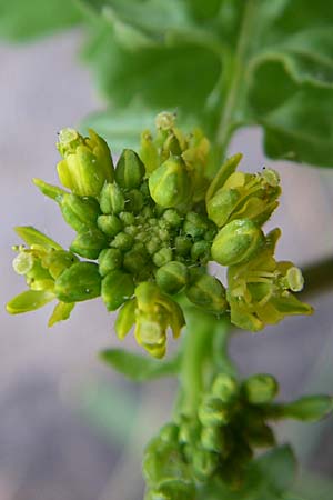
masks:
[(243, 392), (251, 404), (264, 404), (271, 402), (279, 391), (279, 384), (274, 377), (260, 373), (250, 377), (243, 382)]

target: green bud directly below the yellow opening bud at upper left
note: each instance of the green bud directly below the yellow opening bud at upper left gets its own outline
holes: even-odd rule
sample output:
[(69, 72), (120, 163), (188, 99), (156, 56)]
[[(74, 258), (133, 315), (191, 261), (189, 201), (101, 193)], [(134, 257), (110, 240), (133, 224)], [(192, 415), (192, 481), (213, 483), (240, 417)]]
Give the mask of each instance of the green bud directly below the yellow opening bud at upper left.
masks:
[(67, 223), (79, 232), (94, 227), (101, 213), (98, 201), (92, 197), (67, 193), (63, 194), (59, 204)]

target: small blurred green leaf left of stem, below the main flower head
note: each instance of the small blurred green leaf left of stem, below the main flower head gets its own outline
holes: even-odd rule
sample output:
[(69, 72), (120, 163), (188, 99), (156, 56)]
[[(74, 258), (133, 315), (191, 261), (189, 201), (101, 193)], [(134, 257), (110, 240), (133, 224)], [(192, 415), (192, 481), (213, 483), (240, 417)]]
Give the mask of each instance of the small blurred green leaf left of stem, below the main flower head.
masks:
[(137, 382), (175, 374), (180, 364), (179, 356), (167, 361), (155, 361), (123, 349), (102, 351), (100, 358), (117, 371)]

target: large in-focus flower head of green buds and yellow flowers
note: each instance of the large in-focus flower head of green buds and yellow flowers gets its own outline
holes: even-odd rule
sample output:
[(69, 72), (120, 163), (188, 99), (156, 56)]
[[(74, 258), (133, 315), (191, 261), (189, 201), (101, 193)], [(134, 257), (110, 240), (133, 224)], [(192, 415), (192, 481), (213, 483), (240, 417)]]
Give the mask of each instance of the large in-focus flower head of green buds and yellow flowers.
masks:
[[(14, 269), (27, 276), (30, 292), (68, 304), (57, 320), (67, 319), (74, 302), (101, 296), (109, 311), (121, 308), (119, 338), (134, 326), (139, 344), (158, 358), (165, 352), (168, 329), (178, 337), (184, 326), (180, 293), (252, 331), (286, 314), (311, 313), (293, 294), (303, 286), (301, 271), (274, 260), (278, 231), (266, 237), (262, 231), (281, 193), (278, 173), (238, 172), (236, 154), (211, 174), (210, 143), (200, 130), (184, 134), (167, 112), (158, 116), (157, 129), (154, 138), (142, 133), (140, 156), (124, 149), (115, 168), (95, 132), (88, 138), (72, 129), (60, 132), (58, 173), (67, 189), (34, 183), (77, 234), (69, 252), (42, 236), (38, 248), (33, 240), (30, 249), (19, 249)], [(53, 273), (42, 257), (51, 251), (74, 260)], [(31, 281), (37, 270), (20, 264), (29, 259), (51, 276), (42, 289), (33, 288), (40, 280)], [(210, 274), (210, 261), (229, 268), (226, 287)], [(31, 293), (20, 297), (9, 302), (10, 312), (43, 304)]]

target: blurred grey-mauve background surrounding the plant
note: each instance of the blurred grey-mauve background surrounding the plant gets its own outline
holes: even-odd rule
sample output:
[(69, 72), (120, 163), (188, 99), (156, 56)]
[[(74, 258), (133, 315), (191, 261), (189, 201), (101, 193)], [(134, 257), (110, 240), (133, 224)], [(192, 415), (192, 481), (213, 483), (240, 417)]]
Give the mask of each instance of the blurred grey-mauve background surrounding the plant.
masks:
[[(175, 388), (168, 379), (141, 388), (101, 363), (98, 352), (117, 339), (99, 300), (78, 306), (52, 329), (47, 308), (17, 317), (4, 311), (23, 286), (11, 268), (12, 227), (33, 224), (64, 246), (72, 236), (31, 179), (56, 182), (57, 131), (103, 107), (78, 62), (80, 41), (72, 31), (0, 44), (0, 500), (138, 500), (143, 444), (169, 419)], [(230, 152), (238, 151), (245, 170), (270, 164), (282, 177), (281, 208), (270, 222), (283, 228), (278, 257), (305, 267), (332, 256), (333, 172), (268, 162), (256, 129), (234, 137)], [(311, 318), (235, 334), (231, 353), (241, 373), (273, 373), (282, 399), (333, 393), (332, 298), (330, 289), (306, 297), (315, 307)], [(300, 488), (311, 494), (316, 484), (313, 500), (333, 498), (332, 426), (331, 418), (279, 428), (305, 470)]]

